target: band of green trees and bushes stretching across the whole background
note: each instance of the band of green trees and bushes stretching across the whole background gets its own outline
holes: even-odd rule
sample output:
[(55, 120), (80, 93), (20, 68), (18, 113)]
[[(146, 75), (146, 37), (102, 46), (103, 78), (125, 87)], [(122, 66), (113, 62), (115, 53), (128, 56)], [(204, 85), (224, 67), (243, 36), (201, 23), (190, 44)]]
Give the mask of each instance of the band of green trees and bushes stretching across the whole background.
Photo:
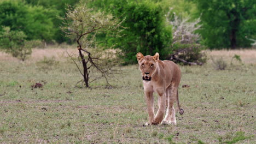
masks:
[[(108, 32), (98, 34), (97, 40), (106, 47), (121, 49), (124, 63), (136, 62), (137, 52), (153, 55), (162, 53), (161, 58), (168, 58), (180, 47), (195, 47), (194, 44), (210, 49), (236, 49), (250, 47), (256, 38), (256, 2), (237, 1), (202, 1), (202, 0), (95, 0), (83, 1), (94, 11), (104, 11), (123, 21), (121, 35), (113, 37)], [(0, 2), (0, 41), (1, 43), (20, 43), (4, 34), (24, 33), (25, 40), (42, 40), (45, 43), (68, 43), (60, 30), (68, 5), (77, 7), (79, 0), (3, 0)], [(171, 8), (171, 10), (170, 10)], [(170, 15), (167, 15), (167, 13)], [(200, 21), (200, 29), (194, 33), (200, 39), (194, 40), (193, 46), (173, 44), (173, 25), (167, 23), (186, 19), (185, 22)], [(182, 23), (181, 23), (182, 24)], [(10, 32), (5, 31), (8, 27)], [(184, 28), (185, 29), (185, 28)], [(186, 36), (187, 37), (187, 36)], [(183, 39), (183, 36), (179, 39)], [(24, 44), (24, 43), (22, 43)], [(200, 46), (200, 49), (202, 48)], [(1, 46), (2, 49), (14, 49), (15, 46)], [(26, 47), (26, 46), (23, 46)], [(198, 46), (196, 46), (198, 48)], [(193, 48), (194, 49), (194, 48)]]

